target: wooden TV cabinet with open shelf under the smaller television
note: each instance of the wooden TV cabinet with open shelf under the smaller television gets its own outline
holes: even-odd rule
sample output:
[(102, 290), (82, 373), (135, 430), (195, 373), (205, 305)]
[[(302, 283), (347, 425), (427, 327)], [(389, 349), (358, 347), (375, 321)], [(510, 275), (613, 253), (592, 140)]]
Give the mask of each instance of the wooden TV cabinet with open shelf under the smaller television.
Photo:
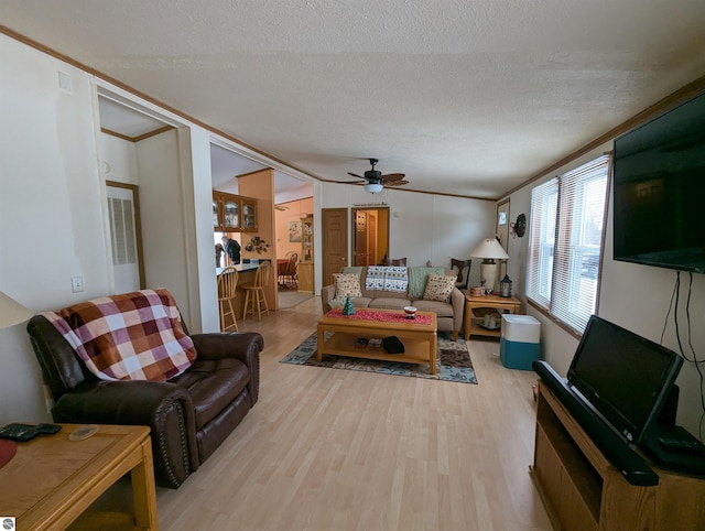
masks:
[(556, 530), (705, 529), (705, 479), (652, 468), (659, 485), (630, 485), (539, 383), (532, 477)]

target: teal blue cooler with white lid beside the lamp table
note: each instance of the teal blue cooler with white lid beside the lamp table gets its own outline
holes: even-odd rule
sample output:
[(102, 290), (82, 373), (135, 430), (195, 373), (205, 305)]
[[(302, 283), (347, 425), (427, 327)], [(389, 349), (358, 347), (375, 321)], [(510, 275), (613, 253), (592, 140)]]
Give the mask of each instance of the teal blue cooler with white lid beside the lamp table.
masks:
[(499, 358), (508, 369), (532, 370), (539, 359), (541, 323), (531, 315), (502, 314)]

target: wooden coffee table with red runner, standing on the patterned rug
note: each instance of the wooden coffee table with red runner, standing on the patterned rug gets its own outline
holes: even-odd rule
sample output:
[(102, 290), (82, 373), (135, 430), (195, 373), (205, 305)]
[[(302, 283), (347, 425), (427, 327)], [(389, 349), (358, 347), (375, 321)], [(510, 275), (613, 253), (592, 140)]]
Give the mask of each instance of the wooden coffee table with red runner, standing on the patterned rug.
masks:
[[(366, 312), (366, 310), (357, 310)], [(394, 313), (403, 315), (401, 310), (369, 310), (375, 313)], [(379, 359), (404, 364), (427, 364), (429, 371), (435, 375), (437, 369), (437, 322), (435, 312), (417, 312), (417, 316), (427, 315), (430, 324), (420, 324), (416, 319), (404, 318), (401, 322), (366, 321), (347, 316), (324, 315), (318, 321), (318, 349), (316, 359), (321, 361), (324, 354), (348, 356), (351, 358)], [(333, 333), (325, 339), (326, 333)], [(388, 354), (383, 348), (358, 348), (358, 338), (384, 338), (397, 336), (404, 345), (401, 354)]]

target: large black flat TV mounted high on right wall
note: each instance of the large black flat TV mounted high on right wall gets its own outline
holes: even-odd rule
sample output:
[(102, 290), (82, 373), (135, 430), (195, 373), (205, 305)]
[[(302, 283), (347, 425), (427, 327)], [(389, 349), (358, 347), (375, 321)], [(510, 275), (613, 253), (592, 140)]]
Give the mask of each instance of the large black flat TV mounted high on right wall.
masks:
[(615, 260), (705, 273), (705, 93), (615, 140)]

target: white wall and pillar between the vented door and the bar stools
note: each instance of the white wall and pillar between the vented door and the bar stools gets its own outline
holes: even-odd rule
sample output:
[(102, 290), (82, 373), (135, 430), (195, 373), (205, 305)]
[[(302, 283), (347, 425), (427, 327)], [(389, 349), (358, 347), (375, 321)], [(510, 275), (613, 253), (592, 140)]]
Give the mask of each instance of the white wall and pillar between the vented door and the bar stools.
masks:
[[(208, 132), (197, 127), (138, 143), (100, 133), (106, 178), (139, 188), (147, 286), (167, 288), (193, 332), (219, 329), (208, 148)], [(186, 278), (198, 279), (197, 290)]]

